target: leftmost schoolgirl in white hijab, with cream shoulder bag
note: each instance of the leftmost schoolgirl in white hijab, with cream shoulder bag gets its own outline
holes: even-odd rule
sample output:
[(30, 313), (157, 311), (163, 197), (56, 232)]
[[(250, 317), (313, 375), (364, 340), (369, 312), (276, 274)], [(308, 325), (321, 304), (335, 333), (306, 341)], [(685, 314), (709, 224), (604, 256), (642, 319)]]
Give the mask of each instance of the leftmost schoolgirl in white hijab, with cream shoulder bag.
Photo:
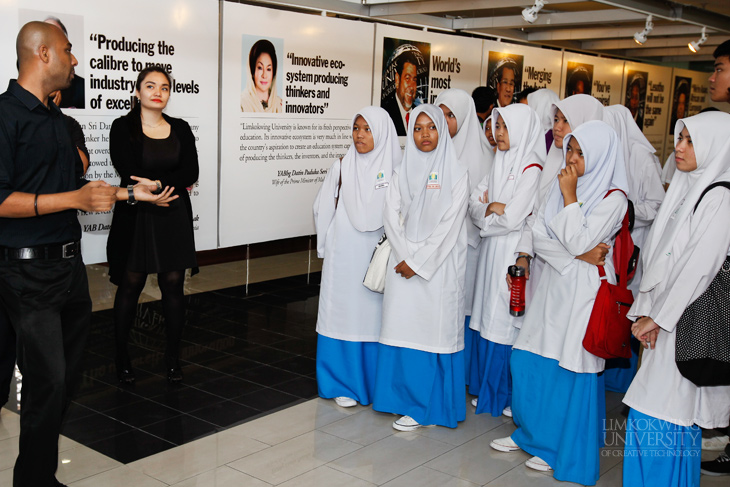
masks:
[(388, 112), (365, 107), (352, 126), (353, 143), (332, 165), (314, 202), (317, 254), (324, 257), (317, 386), (321, 397), (342, 407), (372, 402), (383, 296), (362, 280), (383, 234), (385, 195), (401, 159)]

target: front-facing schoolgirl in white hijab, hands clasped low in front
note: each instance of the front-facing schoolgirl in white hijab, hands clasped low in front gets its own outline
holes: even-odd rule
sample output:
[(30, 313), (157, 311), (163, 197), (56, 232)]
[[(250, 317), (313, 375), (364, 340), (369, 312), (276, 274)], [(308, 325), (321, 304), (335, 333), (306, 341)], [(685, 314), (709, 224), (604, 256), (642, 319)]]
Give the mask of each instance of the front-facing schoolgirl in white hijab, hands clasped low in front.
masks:
[(464, 396), (467, 169), (440, 108), (420, 105), (385, 202), (392, 246), (373, 409), (403, 414), (401, 431), (466, 417)]

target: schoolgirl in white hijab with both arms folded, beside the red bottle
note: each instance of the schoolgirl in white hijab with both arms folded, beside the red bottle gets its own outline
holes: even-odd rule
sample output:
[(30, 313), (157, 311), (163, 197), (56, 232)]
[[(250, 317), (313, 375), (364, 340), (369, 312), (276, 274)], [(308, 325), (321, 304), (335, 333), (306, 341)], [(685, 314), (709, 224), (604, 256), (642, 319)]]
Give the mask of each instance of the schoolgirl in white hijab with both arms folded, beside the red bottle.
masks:
[(477, 414), (501, 416), (503, 411), (510, 414), (509, 359), (522, 321), (508, 312), (504, 274), (514, 262), (525, 219), (535, 205), (546, 153), (540, 119), (529, 106), (495, 108), (491, 118), (496, 159), (469, 198), (469, 214), (482, 236), (469, 324), (478, 333), (472, 343), (469, 393), (479, 396)]

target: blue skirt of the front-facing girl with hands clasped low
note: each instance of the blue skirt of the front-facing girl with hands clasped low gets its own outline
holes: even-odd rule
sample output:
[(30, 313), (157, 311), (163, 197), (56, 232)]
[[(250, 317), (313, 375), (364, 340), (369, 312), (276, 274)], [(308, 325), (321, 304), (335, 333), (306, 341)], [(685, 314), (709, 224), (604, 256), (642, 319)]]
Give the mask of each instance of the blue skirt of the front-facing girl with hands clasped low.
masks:
[(407, 415), (423, 425), (456, 428), (466, 419), (464, 352), (378, 348), (373, 409)]

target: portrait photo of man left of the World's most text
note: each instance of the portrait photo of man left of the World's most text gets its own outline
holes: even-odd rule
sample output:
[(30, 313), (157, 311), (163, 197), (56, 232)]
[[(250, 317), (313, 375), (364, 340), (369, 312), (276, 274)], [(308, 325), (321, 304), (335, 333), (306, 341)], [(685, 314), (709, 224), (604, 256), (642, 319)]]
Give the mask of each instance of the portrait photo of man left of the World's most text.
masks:
[(380, 106), (399, 136), (406, 135), (411, 111), (428, 100), (430, 58), (427, 42), (383, 38)]

